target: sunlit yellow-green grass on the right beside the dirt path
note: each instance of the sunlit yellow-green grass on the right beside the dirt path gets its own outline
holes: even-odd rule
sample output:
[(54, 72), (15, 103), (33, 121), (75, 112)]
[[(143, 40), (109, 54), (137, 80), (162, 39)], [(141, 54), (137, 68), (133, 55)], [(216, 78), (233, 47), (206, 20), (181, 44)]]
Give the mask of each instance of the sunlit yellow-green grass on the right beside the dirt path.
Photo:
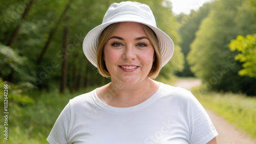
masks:
[(240, 131), (256, 138), (256, 97), (231, 92), (214, 92), (199, 94), (198, 88), (191, 92), (204, 106), (225, 118)]

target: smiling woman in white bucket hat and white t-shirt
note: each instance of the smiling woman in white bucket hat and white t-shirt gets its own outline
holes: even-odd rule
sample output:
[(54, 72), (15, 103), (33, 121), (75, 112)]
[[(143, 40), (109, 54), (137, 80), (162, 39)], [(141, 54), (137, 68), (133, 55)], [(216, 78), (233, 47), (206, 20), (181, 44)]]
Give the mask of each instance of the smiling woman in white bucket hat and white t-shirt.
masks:
[(70, 100), (50, 143), (217, 143), (193, 94), (153, 80), (174, 45), (147, 5), (112, 4), (84, 38), (83, 52), (111, 83)]

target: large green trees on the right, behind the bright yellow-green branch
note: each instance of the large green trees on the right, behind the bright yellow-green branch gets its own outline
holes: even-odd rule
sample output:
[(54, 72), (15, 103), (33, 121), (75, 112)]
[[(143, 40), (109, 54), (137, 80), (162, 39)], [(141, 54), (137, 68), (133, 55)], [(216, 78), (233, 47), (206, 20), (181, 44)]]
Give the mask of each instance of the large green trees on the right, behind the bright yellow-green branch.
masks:
[(249, 0), (215, 1), (213, 4), (214, 8), (202, 21), (191, 43), (191, 51), (187, 56), (191, 71), (208, 85), (205, 91), (241, 90), (248, 95), (256, 95), (255, 79), (238, 75), (242, 63), (233, 60), (237, 54), (229, 51), (228, 47), (230, 40), (237, 35), (256, 33), (255, 18), (241, 21), (243, 16), (247, 15), (248, 18), (253, 15), (254, 8), (249, 5)]

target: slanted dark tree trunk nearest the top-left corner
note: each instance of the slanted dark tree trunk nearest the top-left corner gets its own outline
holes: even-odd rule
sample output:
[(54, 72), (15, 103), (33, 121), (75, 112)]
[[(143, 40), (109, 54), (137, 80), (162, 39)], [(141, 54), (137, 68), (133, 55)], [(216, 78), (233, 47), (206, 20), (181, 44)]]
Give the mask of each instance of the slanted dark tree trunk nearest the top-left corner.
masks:
[[(26, 18), (26, 16), (28, 15), (28, 12), (29, 12), (29, 10), (30, 10), (30, 8), (31, 8), (31, 6), (32, 6), (32, 4), (34, 3), (34, 0), (31, 0), (28, 4), (27, 4), (27, 6), (26, 6), (26, 8), (25, 8), (25, 11), (23, 12), (23, 14), (22, 14), (22, 19), (20, 20), (20, 21), (22, 21), (22, 20), (24, 20), (25, 18)], [(20, 25), (21, 25), (21, 23), (18, 23), (18, 25), (17, 25), (17, 27), (15, 28), (15, 30), (13, 31), (13, 33), (12, 33), (12, 36), (11, 36), (11, 39), (9, 40), (9, 42), (7, 43), (7, 46), (12, 46), (12, 44), (13, 44), (13, 42), (14, 42), (14, 39), (17, 37), (17, 35), (18, 35), (18, 32), (19, 32), (19, 29), (20, 29)]]

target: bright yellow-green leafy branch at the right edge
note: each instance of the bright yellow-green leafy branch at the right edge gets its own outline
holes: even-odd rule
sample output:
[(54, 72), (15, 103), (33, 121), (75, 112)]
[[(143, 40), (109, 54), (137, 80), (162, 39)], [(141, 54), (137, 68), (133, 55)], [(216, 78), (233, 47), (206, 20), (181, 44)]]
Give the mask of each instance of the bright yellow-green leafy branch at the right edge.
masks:
[(229, 48), (231, 51), (240, 52), (234, 57), (235, 60), (243, 62), (244, 69), (239, 70), (238, 74), (256, 78), (256, 34), (246, 37), (239, 35), (237, 39), (231, 40)]

